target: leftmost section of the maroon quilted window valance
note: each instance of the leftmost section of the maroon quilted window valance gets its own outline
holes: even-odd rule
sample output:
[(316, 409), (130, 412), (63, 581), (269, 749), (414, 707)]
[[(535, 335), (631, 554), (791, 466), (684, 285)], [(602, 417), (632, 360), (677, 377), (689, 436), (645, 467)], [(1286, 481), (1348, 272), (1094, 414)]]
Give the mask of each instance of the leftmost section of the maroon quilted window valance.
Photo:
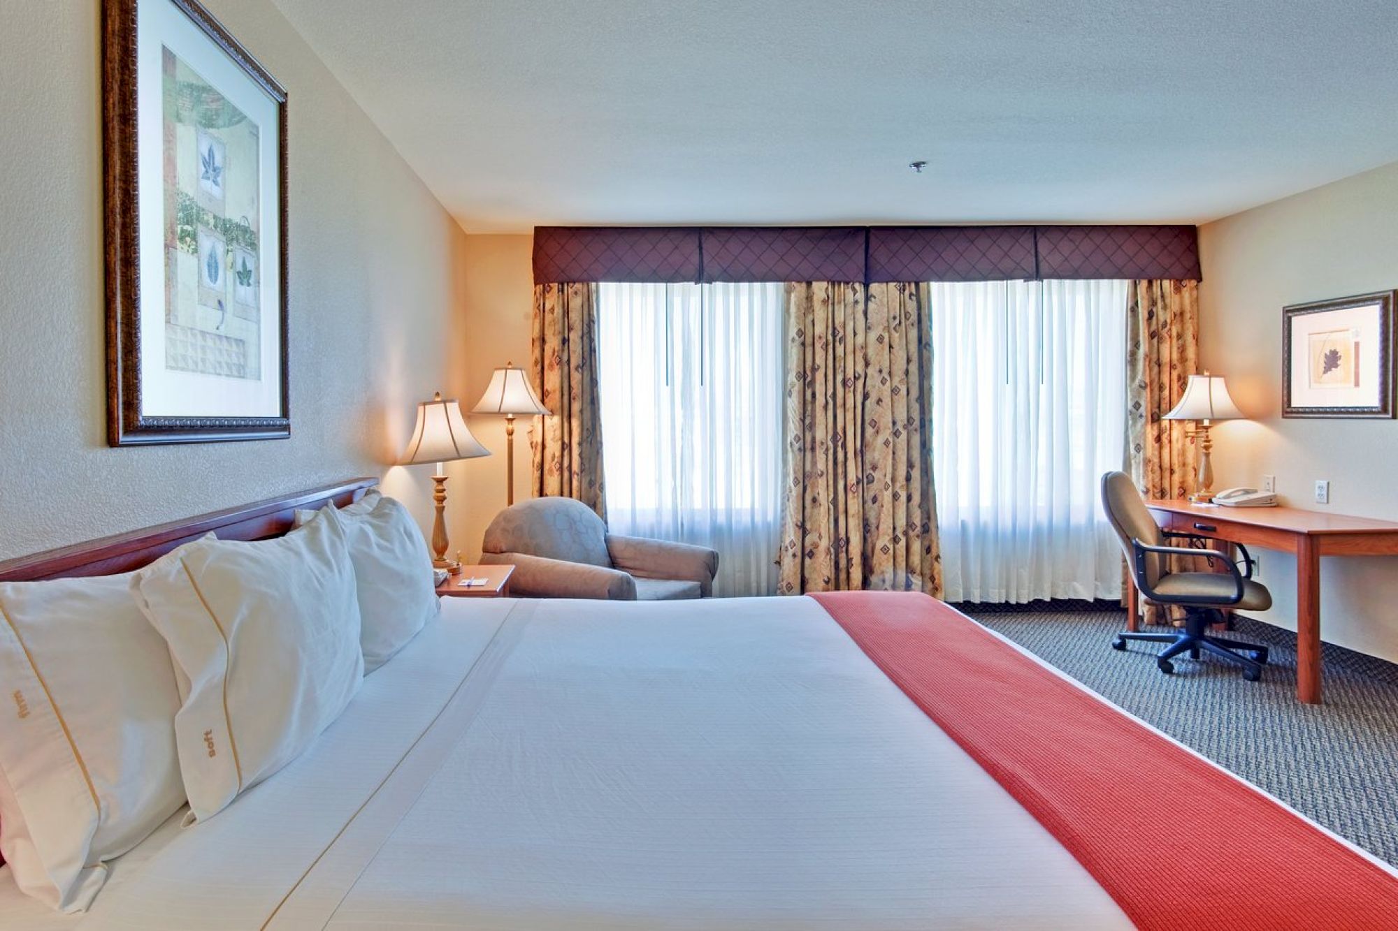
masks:
[(699, 281), (693, 226), (535, 226), (534, 281)]

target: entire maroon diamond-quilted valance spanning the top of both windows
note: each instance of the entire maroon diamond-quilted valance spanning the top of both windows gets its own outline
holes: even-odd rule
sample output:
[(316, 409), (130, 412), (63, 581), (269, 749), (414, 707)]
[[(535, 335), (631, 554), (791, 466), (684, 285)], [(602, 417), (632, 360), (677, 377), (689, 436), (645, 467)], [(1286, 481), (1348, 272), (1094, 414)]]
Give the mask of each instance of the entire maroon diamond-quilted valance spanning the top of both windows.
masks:
[(1198, 281), (1194, 226), (537, 226), (534, 281)]

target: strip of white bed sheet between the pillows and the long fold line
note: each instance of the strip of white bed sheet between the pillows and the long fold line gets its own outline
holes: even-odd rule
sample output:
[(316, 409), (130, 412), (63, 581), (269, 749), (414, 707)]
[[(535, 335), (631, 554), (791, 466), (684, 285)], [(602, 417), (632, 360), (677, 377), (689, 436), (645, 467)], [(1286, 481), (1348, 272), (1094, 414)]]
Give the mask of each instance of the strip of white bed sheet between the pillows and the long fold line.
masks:
[(365, 677), (359, 693), (294, 763), (207, 822), (182, 808), (133, 851), (85, 914), (50, 911), (0, 868), (0, 928), (257, 928), (428, 731), (513, 602), (428, 625)]

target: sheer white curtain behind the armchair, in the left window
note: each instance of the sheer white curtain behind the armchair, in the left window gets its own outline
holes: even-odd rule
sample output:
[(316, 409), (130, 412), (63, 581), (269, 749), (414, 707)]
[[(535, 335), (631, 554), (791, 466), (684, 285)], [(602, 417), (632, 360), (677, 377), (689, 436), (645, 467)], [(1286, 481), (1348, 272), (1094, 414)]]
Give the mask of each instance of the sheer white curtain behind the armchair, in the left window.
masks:
[(713, 547), (714, 594), (773, 594), (781, 510), (781, 285), (603, 284), (607, 521)]

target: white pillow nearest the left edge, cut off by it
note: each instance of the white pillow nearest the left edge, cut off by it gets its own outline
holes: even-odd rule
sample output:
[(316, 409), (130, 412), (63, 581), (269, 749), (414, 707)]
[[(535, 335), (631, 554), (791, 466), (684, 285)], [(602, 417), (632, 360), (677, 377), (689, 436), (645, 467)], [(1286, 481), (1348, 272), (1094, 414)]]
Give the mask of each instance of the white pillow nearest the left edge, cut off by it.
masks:
[(0, 851), (25, 893), (81, 911), (185, 804), (179, 692), (130, 575), (0, 584)]

